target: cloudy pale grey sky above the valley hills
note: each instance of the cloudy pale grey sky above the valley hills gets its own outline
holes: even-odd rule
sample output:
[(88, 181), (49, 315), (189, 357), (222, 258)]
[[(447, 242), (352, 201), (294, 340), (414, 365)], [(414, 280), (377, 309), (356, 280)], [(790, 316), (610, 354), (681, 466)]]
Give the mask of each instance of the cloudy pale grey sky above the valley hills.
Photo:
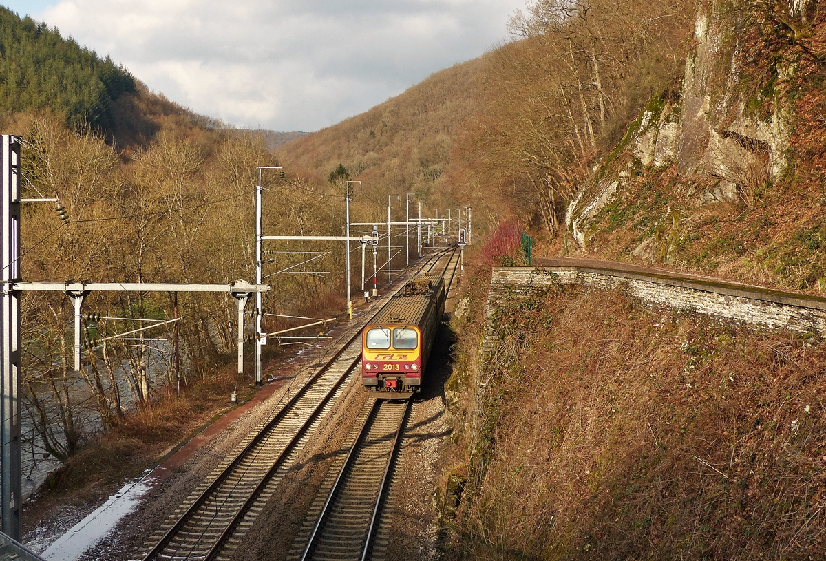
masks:
[(233, 126), (317, 131), (511, 37), (526, 0), (0, 0)]

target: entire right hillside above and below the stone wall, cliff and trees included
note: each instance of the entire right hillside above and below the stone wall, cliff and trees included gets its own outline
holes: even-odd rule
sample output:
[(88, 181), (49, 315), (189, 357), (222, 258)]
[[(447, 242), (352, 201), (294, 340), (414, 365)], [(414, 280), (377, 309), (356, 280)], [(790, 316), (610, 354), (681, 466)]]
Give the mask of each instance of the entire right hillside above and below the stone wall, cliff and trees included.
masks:
[(622, 284), (487, 292), (532, 225), (545, 254), (822, 295), (822, 4), (539, 0), (514, 28), (451, 164), (510, 186), (521, 224), (468, 256), (452, 321), (448, 549), (824, 559), (819, 327), (649, 307)]

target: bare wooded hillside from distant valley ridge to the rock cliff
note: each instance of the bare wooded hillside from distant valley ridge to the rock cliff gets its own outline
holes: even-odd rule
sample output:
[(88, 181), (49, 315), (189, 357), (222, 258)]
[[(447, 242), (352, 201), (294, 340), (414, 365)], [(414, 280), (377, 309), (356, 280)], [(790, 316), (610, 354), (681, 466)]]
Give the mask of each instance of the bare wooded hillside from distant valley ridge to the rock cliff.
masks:
[[(587, 9), (584, 9), (587, 7)], [(693, 0), (535, 2), (516, 40), (279, 150), (365, 190), (471, 204), (479, 225), (517, 217), (558, 235), (567, 203), (653, 94), (678, 79)]]

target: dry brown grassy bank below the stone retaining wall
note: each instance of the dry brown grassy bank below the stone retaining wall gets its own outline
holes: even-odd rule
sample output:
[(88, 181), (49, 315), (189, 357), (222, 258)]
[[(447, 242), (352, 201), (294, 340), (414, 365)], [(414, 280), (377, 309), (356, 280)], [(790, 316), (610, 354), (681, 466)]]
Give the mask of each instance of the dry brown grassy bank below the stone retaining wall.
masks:
[(621, 292), (513, 303), (499, 327), (458, 556), (826, 555), (819, 345)]

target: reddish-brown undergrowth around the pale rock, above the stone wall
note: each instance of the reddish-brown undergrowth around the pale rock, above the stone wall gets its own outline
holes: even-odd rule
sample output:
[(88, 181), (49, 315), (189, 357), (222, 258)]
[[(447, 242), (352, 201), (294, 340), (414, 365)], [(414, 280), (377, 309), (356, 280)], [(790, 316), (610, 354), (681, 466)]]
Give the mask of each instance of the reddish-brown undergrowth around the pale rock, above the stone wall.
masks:
[[(739, 32), (715, 38), (718, 68), (708, 69), (716, 72), (708, 95), (711, 106), (721, 108), (710, 116), (720, 135), (728, 134), (725, 127), (737, 118), (770, 130), (781, 115), (788, 131), (781, 173), (771, 174), (766, 143), (748, 138), (740, 142), (752, 152), (752, 164), (724, 161), (732, 170), (728, 174), (693, 173), (680, 162), (643, 165), (633, 146), (619, 146), (600, 173), (607, 180), (624, 173), (625, 179), (619, 178), (613, 201), (588, 226), (589, 252), (782, 288), (826, 290), (826, 21), (818, 2), (804, 2), (805, 10), (794, 17), (781, 10), (784, 6), (733, 2), (720, 7), (714, 17), (724, 21), (721, 27)], [(729, 66), (731, 72), (720, 71)], [(676, 119), (683, 101), (681, 85), (675, 83), (649, 107)], [(778, 131), (777, 141), (782, 136)], [(597, 175), (593, 181), (597, 189), (605, 186), (600, 179)], [(721, 193), (727, 184), (731, 193)], [(559, 244), (553, 250), (563, 248)]]

